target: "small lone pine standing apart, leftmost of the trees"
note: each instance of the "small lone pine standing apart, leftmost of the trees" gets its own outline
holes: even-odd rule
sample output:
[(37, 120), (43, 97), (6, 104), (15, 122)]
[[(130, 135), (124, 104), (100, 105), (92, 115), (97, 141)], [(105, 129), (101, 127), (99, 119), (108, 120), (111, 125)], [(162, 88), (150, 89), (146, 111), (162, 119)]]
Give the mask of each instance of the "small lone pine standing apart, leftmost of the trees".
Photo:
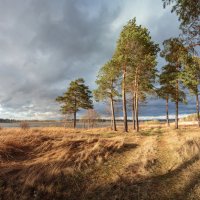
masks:
[(70, 83), (69, 88), (63, 94), (58, 96), (56, 101), (61, 103), (62, 114), (73, 114), (74, 128), (76, 128), (76, 114), (82, 109), (92, 109), (92, 93), (85, 85), (84, 79), (80, 78)]

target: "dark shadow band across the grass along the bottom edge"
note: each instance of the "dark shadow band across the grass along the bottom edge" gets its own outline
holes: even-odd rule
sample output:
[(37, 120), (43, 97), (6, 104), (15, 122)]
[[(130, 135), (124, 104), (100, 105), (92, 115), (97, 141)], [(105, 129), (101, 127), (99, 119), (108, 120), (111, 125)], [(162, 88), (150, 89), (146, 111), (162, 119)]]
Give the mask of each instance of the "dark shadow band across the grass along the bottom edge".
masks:
[[(125, 174), (116, 182), (108, 185), (99, 185), (96, 188), (90, 185), (90, 180), (85, 179), (81, 172), (66, 174), (62, 170), (57, 174), (48, 174), (48, 169), (45, 174), (40, 174), (40, 169), (45, 166), (41, 164), (34, 165), (29, 169), (21, 169), (21, 173), (28, 174), (35, 170), (35, 176), (40, 174), (40, 178), (35, 184), (27, 184), (20, 180), (17, 171), (13, 178), (4, 177), (0, 181), (0, 199), (33, 199), (33, 200), (167, 200), (186, 199), (189, 192), (195, 187), (200, 178), (200, 173), (192, 177), (190, 182), (186, 183), (179, 191), (173, 190), (173, 185), (176, 185), (179, 179), (175, 179), (184, 169), (198, 161), (198, 157), (183, 163), (177, 169), (170, 171), (164, 175), (141, 178), (135, 181)], [(52, 163), (51, 163), (52, 164)], [(56, 163), (59, 165), (59, 163)], [(55, 165), (55, 163), (54, 163)], [(18, 178), (17, 178), (18, 177)], [(48, 178), (47, 178), (48, 177)], [(98, 180), (97, 180), (98, 183)], [(91, 189), (93, 188), (93, 189)]]

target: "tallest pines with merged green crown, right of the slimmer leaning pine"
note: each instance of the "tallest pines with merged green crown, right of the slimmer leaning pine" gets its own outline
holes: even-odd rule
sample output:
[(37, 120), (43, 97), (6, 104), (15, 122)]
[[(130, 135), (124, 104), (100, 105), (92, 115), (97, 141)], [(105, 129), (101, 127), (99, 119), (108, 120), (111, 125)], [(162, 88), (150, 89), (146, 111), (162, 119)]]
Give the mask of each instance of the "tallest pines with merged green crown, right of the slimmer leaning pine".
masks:
[(154, 44), (149, 31), (136, 24), (136, 19), (130, 20), (124, 26), (117, 43), (115, 56), (122, 67), (122, 96), (124, 110), (124, 130), (127, 131), (126, 92), (132, 90), (134, 119), (136, 130), (139, 131), (139, 101), (153, 89), (156, 77), (156, 55), (159, 51)]

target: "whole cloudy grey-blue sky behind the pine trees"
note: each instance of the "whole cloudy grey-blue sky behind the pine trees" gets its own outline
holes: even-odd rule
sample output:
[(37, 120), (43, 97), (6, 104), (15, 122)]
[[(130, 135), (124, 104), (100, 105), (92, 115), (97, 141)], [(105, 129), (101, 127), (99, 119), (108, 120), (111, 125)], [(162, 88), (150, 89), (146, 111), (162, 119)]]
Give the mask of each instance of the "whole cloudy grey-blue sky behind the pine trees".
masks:
[[(177, 16), (162, 0), (0, 0), (0, 118), (60, 118), (55, 98), (79, 77), (95, 89), (98, 70), (134, 17), (161, 48), (179, 35)], [(147, 105), (142, 115), (164, 115), (162, 100)]]

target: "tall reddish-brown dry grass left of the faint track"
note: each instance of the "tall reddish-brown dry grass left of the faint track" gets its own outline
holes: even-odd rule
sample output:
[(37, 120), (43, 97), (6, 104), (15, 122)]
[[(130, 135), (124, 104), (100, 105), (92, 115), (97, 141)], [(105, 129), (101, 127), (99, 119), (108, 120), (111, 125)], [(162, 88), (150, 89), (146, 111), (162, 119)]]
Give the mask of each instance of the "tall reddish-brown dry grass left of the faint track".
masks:
[(18, 199), (20, 194), (20, 199), (30, 199), (34, 192), (49, 199), (58, 193), (60, 199), (67, 195), (63, 187), (73, 190), (77, 174), (105, 162), (123, 147), (121, 137), (80, 132), (59, 128), (1, 131), (2, 198)]

